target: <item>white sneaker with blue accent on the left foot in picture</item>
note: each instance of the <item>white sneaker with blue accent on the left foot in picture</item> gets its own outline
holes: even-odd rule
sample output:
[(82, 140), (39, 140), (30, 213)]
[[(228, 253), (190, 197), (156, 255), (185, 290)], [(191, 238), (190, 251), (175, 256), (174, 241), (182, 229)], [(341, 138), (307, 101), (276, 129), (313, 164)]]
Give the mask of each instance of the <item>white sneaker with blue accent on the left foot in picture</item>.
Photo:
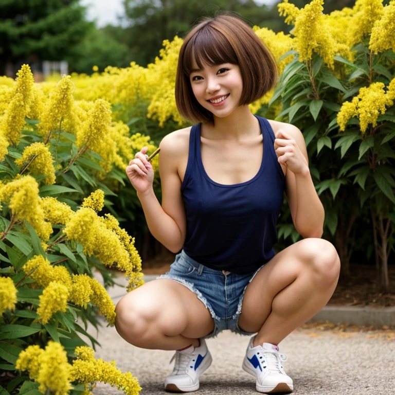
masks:
[(174, 358), (174, 369), (165, 380), (165, 390), (173, 392), (197, 391), (199, 376), (209, 368), (212, 362), (205, 340), (200, 339), (199, 347), (190, 346), (183, 351), (176, 351), (170, 363)]

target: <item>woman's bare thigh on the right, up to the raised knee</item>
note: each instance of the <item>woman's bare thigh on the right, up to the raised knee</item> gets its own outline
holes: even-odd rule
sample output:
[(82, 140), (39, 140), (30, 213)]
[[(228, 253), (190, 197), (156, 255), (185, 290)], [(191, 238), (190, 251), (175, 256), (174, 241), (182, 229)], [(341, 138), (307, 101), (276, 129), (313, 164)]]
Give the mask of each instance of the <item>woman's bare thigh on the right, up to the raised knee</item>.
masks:
[[(298, 276), (323, 287), (333, 283), (338, 275), (338, 260), (334, 246), (324, 239), (308, 238), (285, 248), (266, 263), (247, 285), (239, 327), (247, 332), (257, 332), (271, 313), (276, 295), (292, 284)], [(298, 290), (295, 298), (302, 298)]]

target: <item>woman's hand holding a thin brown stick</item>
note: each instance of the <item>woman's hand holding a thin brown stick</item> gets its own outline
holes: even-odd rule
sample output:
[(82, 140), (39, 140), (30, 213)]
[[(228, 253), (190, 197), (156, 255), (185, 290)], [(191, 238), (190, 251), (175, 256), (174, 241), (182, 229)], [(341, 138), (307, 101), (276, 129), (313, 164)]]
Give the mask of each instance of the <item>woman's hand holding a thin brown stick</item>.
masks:
[(143, 147), (140, 152), (134, 156), (126, 168), (126, 174), (134, 189), (138, 193), (144, 193), (152, 187), (154, 181), (154, 170), (147, 160), (147, 147)]

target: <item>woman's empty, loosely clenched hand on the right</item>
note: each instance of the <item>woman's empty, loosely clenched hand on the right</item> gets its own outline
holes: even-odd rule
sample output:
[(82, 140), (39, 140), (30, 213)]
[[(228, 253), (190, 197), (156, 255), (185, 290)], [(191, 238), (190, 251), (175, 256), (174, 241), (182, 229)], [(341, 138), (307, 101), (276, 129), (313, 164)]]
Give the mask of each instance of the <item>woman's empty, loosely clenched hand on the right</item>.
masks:
[(278, 163), (285, 165), (294, 174), (309, 171), (306, 157), (300, 151), (295, 139), (283, 130), (279, 130), (274, 140), (274, 150)]

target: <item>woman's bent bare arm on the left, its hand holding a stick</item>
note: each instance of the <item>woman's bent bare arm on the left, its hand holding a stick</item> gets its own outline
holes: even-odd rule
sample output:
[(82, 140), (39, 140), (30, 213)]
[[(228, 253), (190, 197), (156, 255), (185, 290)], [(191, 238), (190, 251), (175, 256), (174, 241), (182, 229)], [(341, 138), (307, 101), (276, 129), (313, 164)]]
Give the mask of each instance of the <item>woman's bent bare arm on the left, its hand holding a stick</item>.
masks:
[[(137, 190), (137, 196), (152, 236), (171, 252), (177, 253), (185, 241), (186, 220), (181, 194), (181, 179), (177, 172), (177, 158), (179, 156), (176, 155), (176, 151), (179, 148), (174, 137), (173, 134), (169, 134), (160, 142), (159, 173), (162, 187), (162, 205), (159, 204), (155, 196), (152, 181), (148, 186), (145, 185), (141, 188), (133, 178), (131, 179), (129, 174), (128, 176)], [(152, 166), (145, 157), (146, 150), (146, 148), (141, 150), (130, 166), (139, 166), (139, 170), (142, 171), (142, 173), (139, 173), (141, 178), (148, 176), (143, 175), (144, 168), (148, 170), (148, 173), (152, 171)], [(137, 172), (138, 169), (135, 169), (135, 171)]]

